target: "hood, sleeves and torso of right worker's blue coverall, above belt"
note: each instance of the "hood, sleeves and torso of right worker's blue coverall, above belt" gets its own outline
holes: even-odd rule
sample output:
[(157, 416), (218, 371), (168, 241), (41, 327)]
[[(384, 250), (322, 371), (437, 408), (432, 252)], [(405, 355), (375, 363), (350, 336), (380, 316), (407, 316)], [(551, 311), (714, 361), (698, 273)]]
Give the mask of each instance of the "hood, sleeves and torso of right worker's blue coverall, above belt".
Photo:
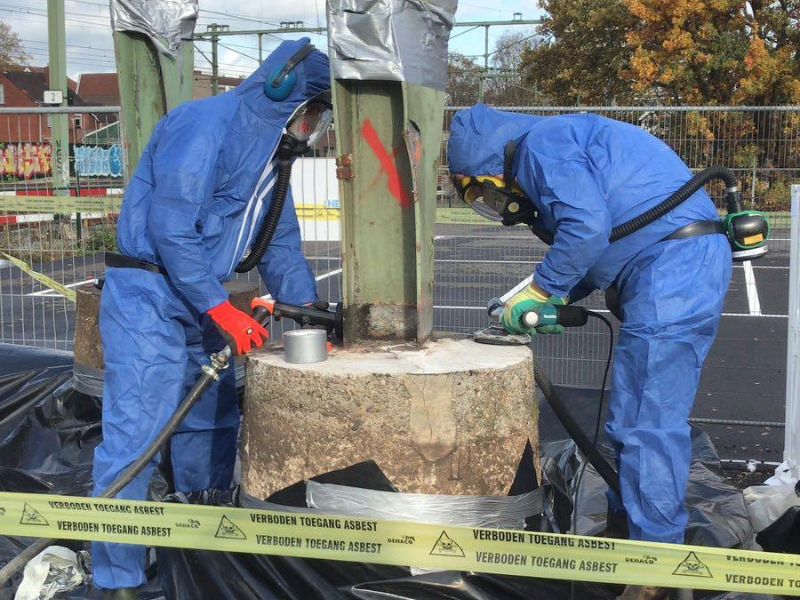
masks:
[(536, 226), (554, 236), (534, 274), (550, 294), (575, 298), (605, 289), (643, 249), (684, 225), (718, 218), (699, 190), (647, 227), (609, 244), (614, 226), (664, 200), (691, 172), (641, 127), (588, 113), (537, 117), (483, 104), (459, 111), (448, 143), (450, 172), (502, 174), (512, 140), (515, 182), (536, 209)]

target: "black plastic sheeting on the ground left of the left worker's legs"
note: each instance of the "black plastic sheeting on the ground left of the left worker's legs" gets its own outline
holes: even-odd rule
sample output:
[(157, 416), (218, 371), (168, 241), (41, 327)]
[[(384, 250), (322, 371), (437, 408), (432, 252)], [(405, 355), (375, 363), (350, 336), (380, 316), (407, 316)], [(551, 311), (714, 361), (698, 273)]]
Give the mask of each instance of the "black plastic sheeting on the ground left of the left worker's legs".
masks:
[[(0, 345), (0, 491), (90, 494), (101, 440), (100, 399), (73, 390), (71, 378), (71, 355)], [(0, 564), (33, 541), (0, 536)], [(88, 550), (80, 542), (59, 544)], [(142, 598), (163, 599), (156, 570), (148, 574)], [(20, 581), (21, 573), (0, 589), (0, 600), (11, 600)], [(99, 600), (102, 592), (84, 585), (59, 598)]]

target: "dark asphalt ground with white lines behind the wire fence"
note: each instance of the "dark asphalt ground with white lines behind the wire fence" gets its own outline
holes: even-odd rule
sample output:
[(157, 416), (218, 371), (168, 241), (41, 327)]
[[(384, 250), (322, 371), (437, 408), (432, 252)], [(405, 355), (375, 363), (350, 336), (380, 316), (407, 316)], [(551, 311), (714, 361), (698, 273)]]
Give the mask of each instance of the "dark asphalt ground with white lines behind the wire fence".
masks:
[[(719, 333), (703, 366), (693, 418), (780, 422), (785, 411), (788, 307), (788, 231), (773, 231), (770, 254), (752, 265), (736, 265)], [(486, 326), (486, 302), (501, 296), (541, 260), (546, 247), (520, 228), (471, 224), (437, 225), (434, 322), (437, 331), (469, 334)], [(304, 252), (321, 298), (341, 297), (338, 242), (307, 242)], [(100, 255), (34, 265), (55, 280), (77, 286), (102, 276)], [(251, 277), (257, 277), (251, 273)], [(583, 304), (604, 311), (600, 294)], [(0, 340), (68, 349), (74, 335), (71, 303), (16, 267), (0, 268)], [(615, 325), (616, 320), (607, 313)], [(282, 324), (273, 326), (273, 338)], [(604, 326), (592, 320), (560, 336), (537, 336), (537, 357), (557, 383), (599, 388), (608, 351)], [(578, 394), (577, 410), (594, 414), (596, 397)], [(779, 427), (702, 424), (726, 460), (779, 463), (784, 430)]]

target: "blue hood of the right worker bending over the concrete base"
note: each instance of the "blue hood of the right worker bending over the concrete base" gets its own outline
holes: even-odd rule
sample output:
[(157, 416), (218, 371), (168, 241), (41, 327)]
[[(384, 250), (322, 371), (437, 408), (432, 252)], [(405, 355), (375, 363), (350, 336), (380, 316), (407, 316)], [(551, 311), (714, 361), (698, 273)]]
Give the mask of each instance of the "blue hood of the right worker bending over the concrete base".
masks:
[(485, 104), (460, 110), (450, 125), (447, 160), (451, 173), (500, 175), (509, 141), (519, 146), (528, 131), (544, 117), (500, 112)]

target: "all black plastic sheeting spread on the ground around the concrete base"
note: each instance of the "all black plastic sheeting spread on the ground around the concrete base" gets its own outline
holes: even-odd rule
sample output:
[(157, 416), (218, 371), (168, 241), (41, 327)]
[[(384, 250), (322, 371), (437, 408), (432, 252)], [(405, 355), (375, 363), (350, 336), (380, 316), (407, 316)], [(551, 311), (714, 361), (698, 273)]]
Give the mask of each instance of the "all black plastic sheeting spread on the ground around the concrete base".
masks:
[[(0, 347), (0, 490), (51, 494), (88, 495), (91, 490), (91, 461), (100, 441), (100, 400), (72, 389), (71, 369), (64, 357), (46, 352), (26, 353), (24, 360), (6, 360), (19, 349)], [(24, 370), (20, 370), (22, 367)], [(567, 401), (570, 390), (562, 389)], [(588, 402), (589, 392), (575, 391)], [(595, 392), (596, 394), (596, 392)], [(580, 402), (576, 402), (580, 405)], [(586, 411), (587, 430), (591, 431), (592, 411)], [(543, 408), (542, 431), (553, 431)], [(751, 547), (752, 531), (741, 493), (728, 485), (721, 475), (719, 460), (708, 436), (694, 430), (694, 459), (687, 501), (691, 523), (687, 531), (690, 543), (724, 547)], [(546, 515), (530, 521), (537, 529), (564, 531), (570, 525), (575, 474), (581, 461), (571, 442), (544, 440), (542, 464), (546, 473)], [(529, 465), (530, 451), (523, 464)], [(391, 481), (374, 463), (314, 478), (323, 483), (338, 483), (382, 491), (395, 491)], [(514, 491), (530, 489), (530, 468), (520, 470)], [(151, 487), (151, 496), (160, 497), (163, 480)], [(578, 531), (595, 535), (605, 529), (605, 485), (587, 468), (578, 500)], [(256, 499), (236, 491), (176, 495), (172, 501), (219, 506), (263, 506)], [(298, 483), (273, 495), (273, 503), (285, 506), (305, 505), (305, 484)], [(777, 524), (776, 524), (777, 525)], [(775, 535), (776, 551), (786, 551), (787, 540), (797, 540), (797, 515)], [(772, 528), (770, 528), (772, 529)], [(769, 530), (768, 530), (769, 531)], [(766, 533), (766, 532), (764, 532)], [(762, 534), (763, 536), (763, 534)], [(792, 538), (794, 536), (794, 538)], [(761, 538), (759, 538), (761, 539)], [(29, 539), (0, 537), (0, 561), (5, 563)], [(86, 544), (64, 542), (73, 550)], [(791, 545), (791, 544), (790, 544)], [(792, 551), (799, 551), (796, 547)], [(611, 600), (620, 586), (598, 585), (493, 576), (478, 573), (440, 572), (411, 576), (403, 567), (337, 561), (305, 560), (266, 555), (226, 552), (158, 549), (159, 587), (156, 565), (148, 571), (150, 582), (142, 598), (156, 600), (198, 599), (449, 599), (449, 600), (553, 600), (574, 596), (581, 600)], [(18, 575), (10, 586), (0, 589), (0, 600), (13, 598), (20, 581)], [(97, 600), (101, 593), (90, 585), (66, 596), (71, 600)], [(770, 596), (746, 594), (696, 597), (715, 600), (768, 599)]]

